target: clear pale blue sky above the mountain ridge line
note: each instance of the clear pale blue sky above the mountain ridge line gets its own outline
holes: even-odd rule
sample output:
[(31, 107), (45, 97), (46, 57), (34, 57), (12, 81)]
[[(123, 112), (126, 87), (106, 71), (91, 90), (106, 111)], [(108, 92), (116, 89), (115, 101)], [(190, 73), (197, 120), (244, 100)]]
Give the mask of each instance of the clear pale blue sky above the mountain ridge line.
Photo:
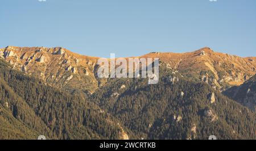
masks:
[(139, 56), (201, 47), (256, 56), (255, 0), (1, 0), (0, 47)]

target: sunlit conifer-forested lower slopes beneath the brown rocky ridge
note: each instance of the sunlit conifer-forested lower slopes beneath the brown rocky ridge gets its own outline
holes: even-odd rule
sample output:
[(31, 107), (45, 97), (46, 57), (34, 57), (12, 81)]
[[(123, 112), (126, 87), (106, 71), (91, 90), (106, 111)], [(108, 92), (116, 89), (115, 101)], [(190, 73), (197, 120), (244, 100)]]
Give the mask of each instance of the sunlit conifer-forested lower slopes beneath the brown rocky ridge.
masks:
[(0, 60), (0, 139), (255, 139), (255, 113), (160, 62), (160, 79), (108, 79), (72, 93)]

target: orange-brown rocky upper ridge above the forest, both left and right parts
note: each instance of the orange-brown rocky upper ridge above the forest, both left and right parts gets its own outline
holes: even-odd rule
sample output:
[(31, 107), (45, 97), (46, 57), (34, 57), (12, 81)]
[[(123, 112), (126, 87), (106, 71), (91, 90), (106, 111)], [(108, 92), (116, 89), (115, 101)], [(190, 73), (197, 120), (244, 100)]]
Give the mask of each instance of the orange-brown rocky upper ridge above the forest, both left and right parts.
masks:
[[(15, 69), (43, 79), (52, 86), (93, 93), (104, 79), (97, 78), (97, 57), (73, 53), (65, 48), (6, 47), (0, 56)], [(256, 57), (242, 58), (202, 48), (187, 53), (152, 52), (140, 57), (158, 57), (184, 77), (204, 81), (215, 89), (238, 86), (256, 74)]]

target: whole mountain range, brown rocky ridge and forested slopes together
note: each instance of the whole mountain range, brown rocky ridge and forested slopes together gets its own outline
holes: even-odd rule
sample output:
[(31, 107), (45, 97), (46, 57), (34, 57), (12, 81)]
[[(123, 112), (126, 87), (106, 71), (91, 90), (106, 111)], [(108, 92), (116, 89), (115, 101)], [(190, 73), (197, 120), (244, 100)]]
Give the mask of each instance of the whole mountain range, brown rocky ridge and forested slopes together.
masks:
[(98, 78), (98, 57), (0, 49), (0, 139), (256, 139), (256, 57), (151, 52), (159, 83)]

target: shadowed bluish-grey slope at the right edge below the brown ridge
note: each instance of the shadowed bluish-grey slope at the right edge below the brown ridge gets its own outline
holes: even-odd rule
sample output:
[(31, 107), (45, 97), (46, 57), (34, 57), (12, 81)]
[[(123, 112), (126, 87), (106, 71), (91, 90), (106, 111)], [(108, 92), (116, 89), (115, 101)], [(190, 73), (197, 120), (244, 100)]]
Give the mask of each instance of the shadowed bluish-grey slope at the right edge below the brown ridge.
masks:
[(256, 75), (241, 86), (234, 86), (223, 92), (228, 97), (237, 100), (251, 110), (256, 110)]

